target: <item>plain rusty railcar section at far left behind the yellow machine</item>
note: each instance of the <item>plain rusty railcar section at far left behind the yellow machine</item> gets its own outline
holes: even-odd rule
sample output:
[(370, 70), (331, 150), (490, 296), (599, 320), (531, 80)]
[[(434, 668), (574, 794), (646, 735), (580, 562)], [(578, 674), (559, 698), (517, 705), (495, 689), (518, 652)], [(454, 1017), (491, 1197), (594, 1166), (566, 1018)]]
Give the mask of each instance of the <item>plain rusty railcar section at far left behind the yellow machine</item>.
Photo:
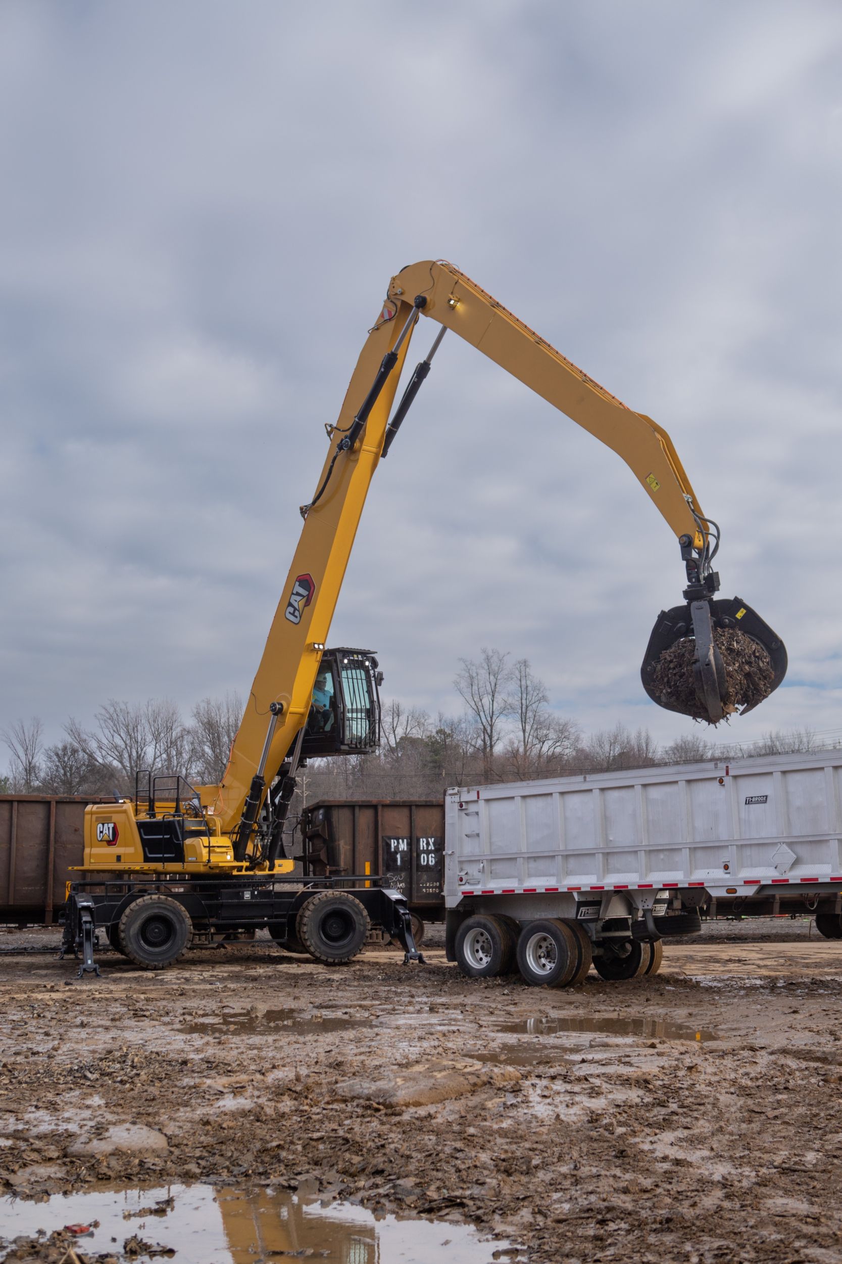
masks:
[(0, 923), (52, 925), (82, 863), (90, 798), (0, 795)]

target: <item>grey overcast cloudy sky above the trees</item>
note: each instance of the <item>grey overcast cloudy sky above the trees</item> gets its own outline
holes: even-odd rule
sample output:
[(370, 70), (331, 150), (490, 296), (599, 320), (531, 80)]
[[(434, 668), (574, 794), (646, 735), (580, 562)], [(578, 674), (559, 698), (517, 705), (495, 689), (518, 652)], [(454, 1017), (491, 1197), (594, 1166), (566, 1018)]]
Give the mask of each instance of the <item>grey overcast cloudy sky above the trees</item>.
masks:
[[(836, 0), (4, 0), (0, 726), (247, 691), (323, 423), (443, 257), (670, 432), (790, 656), (727, 736), (842, 733), (841, 63)], [(332, 640), (430, 710), (497, 646), (667, 741), (682, 586), (619, 458), (451, 335)]]

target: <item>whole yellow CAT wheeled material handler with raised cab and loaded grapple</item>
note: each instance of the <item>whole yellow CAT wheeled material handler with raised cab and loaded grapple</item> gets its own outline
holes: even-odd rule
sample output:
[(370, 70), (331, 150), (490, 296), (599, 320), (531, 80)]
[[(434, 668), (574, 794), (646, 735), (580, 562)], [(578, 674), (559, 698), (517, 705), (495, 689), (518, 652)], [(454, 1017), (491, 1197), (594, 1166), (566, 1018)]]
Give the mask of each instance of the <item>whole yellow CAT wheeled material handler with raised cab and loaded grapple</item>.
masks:
[[(437, 326), (433, 344), (393, 411), (410, 339), (427, 320)], [(322, 474), (300, 507), (298, 547), (222, 780), (193, 789), (179, 777), (148, 776), (134, 800), (87, 809), (85, 870), (107, 881), (73, 884), (68, 945), (91, 940), (91, 927), (100, 927), (116, 948), (154, 968), (173, 961), (197, 930), (269, 925), (278, 942), (340, 961), (359, 951), (370, 919), (415, 954), (395, 892), (365, 875), (302, 889), (290, 878), (283, 832), (307, 758), (377, 746), (377, 661), (370, 651), (326, 642), (369, 485), (447, 330), (612, 447), (677, 536), (687, 586), (683, 604), (655, 623), (641, 669), (649, 696), (717, 723), (783, 680), (786, 653), (771, 628), (740, 598), (715, 597), (718, 527), (702, 513), (669, 435), (456, 268), (413, 264), (393, 277), (338, 420), (326, 426)]]

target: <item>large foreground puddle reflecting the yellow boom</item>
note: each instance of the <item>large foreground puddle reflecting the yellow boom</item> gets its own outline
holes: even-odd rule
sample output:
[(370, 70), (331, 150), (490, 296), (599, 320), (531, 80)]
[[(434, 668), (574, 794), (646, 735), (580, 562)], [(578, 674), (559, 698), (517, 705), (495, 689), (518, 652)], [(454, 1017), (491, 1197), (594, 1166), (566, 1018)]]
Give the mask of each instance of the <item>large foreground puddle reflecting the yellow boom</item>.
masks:
[[(323, 1207), (287, 1191), (193, 1184), (54, 1194), (45, 1202), (0, 1198), (0, 1259), (19, 1234), (95, 1221), (98, 1227), (78, 1239), (83, 1254), (122, 1259), (124, 1243), (136, 1236), (153, 1249), (175, 1251), (177, 1264), (270, 1264), (300, 1256), (332, 1264), (430, 1264), (442, 1256), (448, 1264), (491, 1264), (495, 1251), (513, 1264), (518, 1258), (510, 1244), (482, 1243), (466, 1225), (375, 1220), (352, 1203)], [(151, 1256), (135, 1253), (131, 1259), (148, 1264)]]

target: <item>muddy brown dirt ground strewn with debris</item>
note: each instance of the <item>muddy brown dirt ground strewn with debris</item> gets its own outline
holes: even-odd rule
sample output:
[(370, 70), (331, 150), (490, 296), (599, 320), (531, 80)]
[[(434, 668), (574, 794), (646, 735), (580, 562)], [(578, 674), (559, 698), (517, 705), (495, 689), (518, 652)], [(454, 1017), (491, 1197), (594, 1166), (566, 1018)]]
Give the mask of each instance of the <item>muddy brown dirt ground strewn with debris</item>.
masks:
[(465, 980), (434, 945), (326, 969), (266, 940), (162, 975), (107, 953), (72, 985), (3, 956), (0, 1192), (271, 1184), (533, 1264), (842, 1261), (842, 943), (726, 925), (569, 991)]

